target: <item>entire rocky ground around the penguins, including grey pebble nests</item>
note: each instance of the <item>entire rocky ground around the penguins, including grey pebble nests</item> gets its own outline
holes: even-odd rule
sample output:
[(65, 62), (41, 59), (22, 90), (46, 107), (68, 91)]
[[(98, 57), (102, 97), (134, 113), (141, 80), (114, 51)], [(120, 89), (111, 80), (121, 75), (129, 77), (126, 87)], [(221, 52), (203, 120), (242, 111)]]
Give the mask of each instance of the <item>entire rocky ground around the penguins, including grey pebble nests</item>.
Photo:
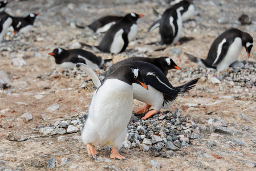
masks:
[[(164, 1), (11, 1), (7, 13), (40, 15), (31, 32), (9, 32), (1, 43), (0, 70), (11, 83), (0, 89), (0, 170), (255, 170), (256, 48), (249, 59), (242, 50), (239, 60), (245, 68), (221, 72), (189, 62), (184, 52), (206, 58), (213, 40), (230, 27), (256, 40), (256, 2), (194, 4), (197, 15), (182, 29), (182, 36), (194, 39), (157, 46), (148, 43), (160, 40), (158, 32), (147, 30), (156, 19), (152, 7), (162, 13), (168, 6)], [(159, 115), (132, 117), (120, 149), (127, 160), (112, 160), (111, 149), (98, 146), (94, 161), (80, 131), (96, 87), (81, 71), (55, 69), (48, 53), (56, 47), (74, 48), (76, 42), (98, 44), (103, 35), (76, 26), (130, 12), (145, 15), (137, 22), (136, 40), (121, 54), (95, 52), (97, 56), (113, 63), (130, 56), (170, 56), (182, 68), (169, 71), (173, 86), (201, 79)], [(242, 14), (249, 15), (251, 25), (240, 24)], [(144, 105), (133, 104), (133, 109)]]

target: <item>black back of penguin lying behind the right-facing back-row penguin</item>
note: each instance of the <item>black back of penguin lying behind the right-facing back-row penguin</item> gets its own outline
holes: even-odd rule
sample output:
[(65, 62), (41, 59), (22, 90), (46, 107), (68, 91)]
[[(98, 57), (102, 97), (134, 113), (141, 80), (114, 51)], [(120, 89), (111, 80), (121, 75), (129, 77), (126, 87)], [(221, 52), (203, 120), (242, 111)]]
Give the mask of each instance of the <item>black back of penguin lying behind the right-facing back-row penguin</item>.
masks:
[(88, 27), (91, 28), (91, 30), (93, 30), (94, 32), (96, 32), (98, 28), (103, 27), (111, 22), (118, 22), (122, 18), (122, 16), (107, 15), (92, 22), (91, 25), (88, 25)]

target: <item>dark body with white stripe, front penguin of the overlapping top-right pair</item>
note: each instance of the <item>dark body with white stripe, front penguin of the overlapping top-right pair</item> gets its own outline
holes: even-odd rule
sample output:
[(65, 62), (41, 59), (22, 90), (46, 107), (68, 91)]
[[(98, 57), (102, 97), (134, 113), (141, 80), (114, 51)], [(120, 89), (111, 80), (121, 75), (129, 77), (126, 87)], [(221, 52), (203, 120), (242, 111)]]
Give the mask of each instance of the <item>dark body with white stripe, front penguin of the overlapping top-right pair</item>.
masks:
[(181, 10), (184, 10), (182, 6), (178, 7), (178, 9), (171, 7), (162, 14), (159, 29), (161, 35), (160, 44), (174, 45), (180, 39), (182, 28)]

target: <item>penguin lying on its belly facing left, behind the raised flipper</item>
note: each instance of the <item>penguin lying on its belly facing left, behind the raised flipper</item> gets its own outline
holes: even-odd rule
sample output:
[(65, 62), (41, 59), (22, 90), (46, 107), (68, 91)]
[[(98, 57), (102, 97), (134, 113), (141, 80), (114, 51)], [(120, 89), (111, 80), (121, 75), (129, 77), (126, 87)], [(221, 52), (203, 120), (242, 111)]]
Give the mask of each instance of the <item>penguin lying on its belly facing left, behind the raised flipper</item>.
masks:
[(73, 69), (76, 63), (87, 64), (93, 70), (99, 69), (105, 62), (109, 60), (104, 60), (101, 56), (97, 57), (92, 54), (92, 52), (82, 50), (82, 49), (71, 49), (64, 50), (64, 48), (55, 48), (54, 51), (49, 53), (55, 58), (56, 67), (58, 68), (70, 68)]

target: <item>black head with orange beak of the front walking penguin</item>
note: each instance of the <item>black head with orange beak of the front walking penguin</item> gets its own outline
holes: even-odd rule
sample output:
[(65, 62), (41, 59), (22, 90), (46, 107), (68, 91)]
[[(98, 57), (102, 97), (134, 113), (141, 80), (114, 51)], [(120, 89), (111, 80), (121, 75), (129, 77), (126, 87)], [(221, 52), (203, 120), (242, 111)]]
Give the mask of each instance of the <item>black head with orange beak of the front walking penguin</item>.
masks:
[(144, 80), (141, 78), (139, 69), (132, 64), (118, 67), (115, 71), (111, 72), (111, 74), (107, 75), (103, 79), (103, 82), (104, 80), (111, 78), (119, 79), (129, 85), (132, 85), (132, 83), (136, 83), (143, 86), (145, 89), (148, 89), (148, 86), (146, 86)]

